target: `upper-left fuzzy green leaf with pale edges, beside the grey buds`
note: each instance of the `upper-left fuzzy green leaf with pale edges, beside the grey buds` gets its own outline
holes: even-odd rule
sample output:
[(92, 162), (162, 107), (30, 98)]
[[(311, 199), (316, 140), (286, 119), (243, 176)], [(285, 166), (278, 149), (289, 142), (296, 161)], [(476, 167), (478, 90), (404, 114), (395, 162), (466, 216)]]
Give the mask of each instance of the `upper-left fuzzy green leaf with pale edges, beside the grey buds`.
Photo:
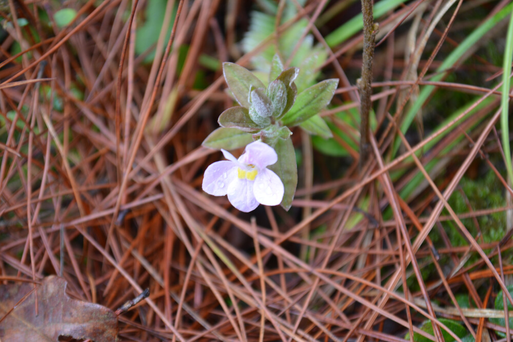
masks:
[(264, 84), (257, 76), (246, 68), (234, 63), (223, 63), (223, 75), (237, 102), (242, 106), (249, 108), (249, 92), (255, 88), (265, 88)]

